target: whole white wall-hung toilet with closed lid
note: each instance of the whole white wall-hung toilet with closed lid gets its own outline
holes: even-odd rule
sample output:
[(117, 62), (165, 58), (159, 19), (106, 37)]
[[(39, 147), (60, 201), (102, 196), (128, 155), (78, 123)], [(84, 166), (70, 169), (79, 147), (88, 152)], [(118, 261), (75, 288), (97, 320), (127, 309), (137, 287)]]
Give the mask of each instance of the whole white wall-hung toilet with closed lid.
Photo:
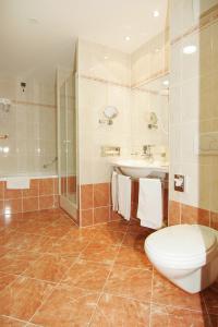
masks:
[(201, 225), (175, 225), (145, 240), (155, 268), (189, 293), (209, 287), (218, 277), (218, 231)]

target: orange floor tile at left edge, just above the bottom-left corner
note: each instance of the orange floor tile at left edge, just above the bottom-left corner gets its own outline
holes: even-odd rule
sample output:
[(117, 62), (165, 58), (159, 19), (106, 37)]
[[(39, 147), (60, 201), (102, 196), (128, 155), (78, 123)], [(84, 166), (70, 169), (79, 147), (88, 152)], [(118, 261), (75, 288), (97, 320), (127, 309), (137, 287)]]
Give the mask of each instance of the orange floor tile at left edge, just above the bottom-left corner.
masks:
[(48, 282), (19, 277), (0, 293), (0, 314), (28, 320), (51, 290)]

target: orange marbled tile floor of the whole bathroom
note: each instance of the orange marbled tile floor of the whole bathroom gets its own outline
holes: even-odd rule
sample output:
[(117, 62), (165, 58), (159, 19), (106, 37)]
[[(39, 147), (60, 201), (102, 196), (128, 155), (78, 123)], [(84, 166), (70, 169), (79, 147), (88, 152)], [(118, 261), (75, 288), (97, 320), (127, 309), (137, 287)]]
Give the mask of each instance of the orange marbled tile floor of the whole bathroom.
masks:
[(218, 282), (190, 295), (149, 264), (149, 230), (80, 230), (61, 210), (0, 218), (0, 326), (218, 326)]

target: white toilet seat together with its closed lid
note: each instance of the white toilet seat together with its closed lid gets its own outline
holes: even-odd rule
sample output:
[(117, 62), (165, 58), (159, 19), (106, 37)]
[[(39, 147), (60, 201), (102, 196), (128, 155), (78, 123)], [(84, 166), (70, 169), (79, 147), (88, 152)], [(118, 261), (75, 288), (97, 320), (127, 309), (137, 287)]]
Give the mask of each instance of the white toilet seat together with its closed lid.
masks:
[(177, 225), (145, 240), (145, 251), (164, 267), (189, 269), (204, 266), (218, 250), (218, 233), (201, 225)]

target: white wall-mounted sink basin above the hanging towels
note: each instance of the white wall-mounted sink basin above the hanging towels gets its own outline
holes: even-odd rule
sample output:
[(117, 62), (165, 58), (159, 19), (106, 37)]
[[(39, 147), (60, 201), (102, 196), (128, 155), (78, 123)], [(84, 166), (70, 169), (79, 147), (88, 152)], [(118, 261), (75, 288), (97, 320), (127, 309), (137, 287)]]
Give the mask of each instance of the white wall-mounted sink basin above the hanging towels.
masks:
[(142, 159), (117, 159), (112, 162), (121, 172), (132, 178), (146, 178), (148, 175), (165, 178), (169, 171), (169, 165), (160, 161), (147, 161)]

